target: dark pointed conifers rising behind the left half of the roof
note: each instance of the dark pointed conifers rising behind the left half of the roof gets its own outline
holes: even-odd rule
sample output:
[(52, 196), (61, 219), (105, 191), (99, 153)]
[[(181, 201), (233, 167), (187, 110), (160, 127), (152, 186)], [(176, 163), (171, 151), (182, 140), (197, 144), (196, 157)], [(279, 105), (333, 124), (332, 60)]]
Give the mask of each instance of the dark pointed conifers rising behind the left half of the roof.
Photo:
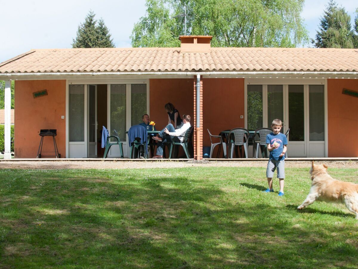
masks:
[(98, 24), (95, 13), (89, 11), (84, 23), (78, 26), (76, 39), (73, 39), (73, 48), (114, 48), (113, 39), (103, 19)]

